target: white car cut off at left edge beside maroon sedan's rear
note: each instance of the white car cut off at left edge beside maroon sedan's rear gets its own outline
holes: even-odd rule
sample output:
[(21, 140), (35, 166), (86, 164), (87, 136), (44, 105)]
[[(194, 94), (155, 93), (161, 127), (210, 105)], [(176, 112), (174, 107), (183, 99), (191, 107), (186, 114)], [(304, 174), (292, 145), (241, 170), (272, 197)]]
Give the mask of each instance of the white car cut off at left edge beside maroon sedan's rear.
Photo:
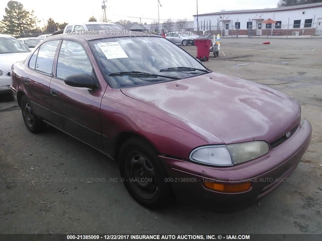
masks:
[(0, 94), (11, 92), (11, 66), (25, 60), (30, 52), (30, 49), (16, 38), (0, 34)]

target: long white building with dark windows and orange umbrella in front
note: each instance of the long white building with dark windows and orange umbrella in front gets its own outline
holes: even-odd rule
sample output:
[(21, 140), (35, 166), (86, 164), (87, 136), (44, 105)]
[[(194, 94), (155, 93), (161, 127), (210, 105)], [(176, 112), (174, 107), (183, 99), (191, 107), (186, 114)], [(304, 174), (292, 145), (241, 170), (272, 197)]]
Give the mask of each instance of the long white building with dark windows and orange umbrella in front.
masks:
[[(263, 22), (272, 22), (265, 24)], [(322, 35), (322, 3), (194, 15), (194, 30), (222, 35)]]

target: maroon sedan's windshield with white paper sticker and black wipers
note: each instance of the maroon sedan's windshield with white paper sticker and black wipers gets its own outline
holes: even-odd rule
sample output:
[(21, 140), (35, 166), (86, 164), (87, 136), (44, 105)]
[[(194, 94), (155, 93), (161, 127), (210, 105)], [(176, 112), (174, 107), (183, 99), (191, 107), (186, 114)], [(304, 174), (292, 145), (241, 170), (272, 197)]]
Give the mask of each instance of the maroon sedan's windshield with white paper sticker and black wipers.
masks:
[(208, 72), (195, 58), (164, 38), (100, 39), (91, 41), (90, 45), (112, 88), (155, 84)]

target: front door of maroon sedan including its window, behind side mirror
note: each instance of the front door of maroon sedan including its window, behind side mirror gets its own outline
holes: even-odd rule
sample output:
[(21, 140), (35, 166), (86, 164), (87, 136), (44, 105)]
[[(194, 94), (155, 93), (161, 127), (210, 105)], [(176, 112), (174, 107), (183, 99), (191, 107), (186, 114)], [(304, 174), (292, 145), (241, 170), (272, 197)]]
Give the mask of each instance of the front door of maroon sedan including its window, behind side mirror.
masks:
[[(72, 74), (88, 74), (98, 88), (89, 89), (65, 84)], [(91, 146), (102, 149), (100, 108), (106, 86), (100, 86), (91, 60), (81, 43), (63, 40), (56, 73), (50, 82), (54, 125)]]

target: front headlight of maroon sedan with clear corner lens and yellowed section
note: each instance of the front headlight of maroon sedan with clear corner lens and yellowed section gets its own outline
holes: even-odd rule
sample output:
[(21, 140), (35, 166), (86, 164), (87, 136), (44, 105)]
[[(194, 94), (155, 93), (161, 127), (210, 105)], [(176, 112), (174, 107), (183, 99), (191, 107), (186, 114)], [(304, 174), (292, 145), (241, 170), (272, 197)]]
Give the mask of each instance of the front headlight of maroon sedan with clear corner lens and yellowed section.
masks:
[(212, 166), (232, 166), (264, 156), (269, 151), (264, 141), (245, 142), (225, 146), (204, 146), (193, 150), (191, 161)]

